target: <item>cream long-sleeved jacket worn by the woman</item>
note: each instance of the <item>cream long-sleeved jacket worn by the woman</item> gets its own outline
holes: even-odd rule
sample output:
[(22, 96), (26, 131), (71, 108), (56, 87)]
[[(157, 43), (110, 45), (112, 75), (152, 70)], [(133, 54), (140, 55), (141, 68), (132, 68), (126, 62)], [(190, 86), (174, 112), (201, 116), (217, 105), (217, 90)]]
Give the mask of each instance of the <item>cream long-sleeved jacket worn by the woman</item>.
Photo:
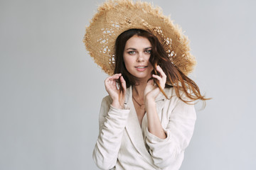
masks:
[(173, 88), (164, 89), (156, 98), (156, 111), (166, 132), (160, 139), (147, 130), (146, 114), (139, 125), (132, 101), (132, 86), (127, 89), (125, 109), (112, 107), (112, 99), (102, 100), (99, 136), (93, 159), (100, 169), (169, 169), (180, 168), (184, 150), (193, 135), (196, 112), (193, 105), (181, 101)]

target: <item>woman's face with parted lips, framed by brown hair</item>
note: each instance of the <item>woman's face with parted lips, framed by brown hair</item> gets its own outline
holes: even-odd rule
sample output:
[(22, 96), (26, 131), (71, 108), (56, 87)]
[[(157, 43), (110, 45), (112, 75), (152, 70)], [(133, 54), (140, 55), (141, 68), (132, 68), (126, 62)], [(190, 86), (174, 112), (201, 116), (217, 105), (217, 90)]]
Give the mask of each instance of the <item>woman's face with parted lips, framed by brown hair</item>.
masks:
[(138, 80), (151, 78), (153, 67), (149, 62), (151, 43), (147, 38), (137, 35), (127, 40), (124, 47), (124, 64), (127, 71)]

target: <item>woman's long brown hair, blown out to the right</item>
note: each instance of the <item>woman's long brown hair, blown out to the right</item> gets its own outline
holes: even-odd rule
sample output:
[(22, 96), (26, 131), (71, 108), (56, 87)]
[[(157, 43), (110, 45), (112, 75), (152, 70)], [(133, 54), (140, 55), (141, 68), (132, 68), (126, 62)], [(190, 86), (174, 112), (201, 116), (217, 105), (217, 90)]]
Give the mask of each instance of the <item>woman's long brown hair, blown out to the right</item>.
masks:
[[(151, 43), (151, 56), (149, 58), (149, 62), (154, 67), (154, 70), (152, 71), (153, 74), (158, 74), (156, 72), (156, 66), (159, 65), (161, 69), (163, 69), (164, 73), (166, 74), (166, 87), (173, 87), (175, 89), (176, 95), (178, 98), (180, 98), (182, 101), (189, 103), (190, 101), (196, 101), (196, 100), (202, 100), (206, 101), (209, 98), (205, 98), (201, 95), (201, 92), (196, 85), (196, 83), (189, 79), (185, 74), (183, 74), (169, 59), (169, 56), (167, 55), (166, 51), (164, 50), (164, 47), (161, 45), (159, 40), (156, 38), (156, 36), (152, 35), (151, 33), (147, 32), (146, 30), (140, 30), (140, 29), (130, 29), (126, 30), (123, 33), (121, 33), (115, 42), (115, 67), (114, 67), (114, 74), (122, 73), (122, 76), (124, 77), (124, 80), (126, 81), (127, 88), (131, 85), (135, 85), (136, 81), (132, 74), (130, 74), (125, 65), (124, 65), (124, 47), (129, 40), (129, 38), (132, 38), (132, 36), (137, 35), (144, 38), (147, 38), (149, 42)], [(159, 86), (159, 89), (161, 92), (166, 96), (163, 89), (161, 89), (161, 86), (159, 85), (159, 81), (157, 79), (154, 79), (157, 86)], [(119, 82), (120, 83), (120, 82)], [(122, 86), (120, 86), (121, 90)], [(181, 98), (181, 91), (185, 93), (188, 100), (184, 100), (184, 98)], [(169, 98), (166, 96), (166, 98)]]

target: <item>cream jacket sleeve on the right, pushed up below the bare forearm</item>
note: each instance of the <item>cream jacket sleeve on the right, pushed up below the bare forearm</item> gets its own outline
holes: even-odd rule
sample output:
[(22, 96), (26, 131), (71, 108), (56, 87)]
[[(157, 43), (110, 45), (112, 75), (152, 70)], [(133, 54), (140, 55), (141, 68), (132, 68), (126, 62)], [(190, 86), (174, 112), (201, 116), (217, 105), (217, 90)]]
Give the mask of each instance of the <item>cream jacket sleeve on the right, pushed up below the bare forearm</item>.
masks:
[(146, 144), (156, 166), (160, 169), (179, 169), (184, 150), (193, 135), (196, 111), (193, 105), (178, 100), (176, 106), (167, 112), (169, 123), (164, 128), (166, 139), (160, 139), (146, 130)]

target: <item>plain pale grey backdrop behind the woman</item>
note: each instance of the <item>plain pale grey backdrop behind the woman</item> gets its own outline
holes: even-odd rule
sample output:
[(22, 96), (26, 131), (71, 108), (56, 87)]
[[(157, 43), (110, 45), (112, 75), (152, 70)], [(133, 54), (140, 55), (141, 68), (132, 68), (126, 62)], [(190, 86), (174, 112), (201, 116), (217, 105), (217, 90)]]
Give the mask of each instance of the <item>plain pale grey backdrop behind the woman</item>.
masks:
[[(0, 169), (97, 169), (107, 77), (82, 43), (102, 1), (0, 1)], [(156, 1), (191, 40), (206, 96), (181, 167), (256, 169), (255, 1)]]

